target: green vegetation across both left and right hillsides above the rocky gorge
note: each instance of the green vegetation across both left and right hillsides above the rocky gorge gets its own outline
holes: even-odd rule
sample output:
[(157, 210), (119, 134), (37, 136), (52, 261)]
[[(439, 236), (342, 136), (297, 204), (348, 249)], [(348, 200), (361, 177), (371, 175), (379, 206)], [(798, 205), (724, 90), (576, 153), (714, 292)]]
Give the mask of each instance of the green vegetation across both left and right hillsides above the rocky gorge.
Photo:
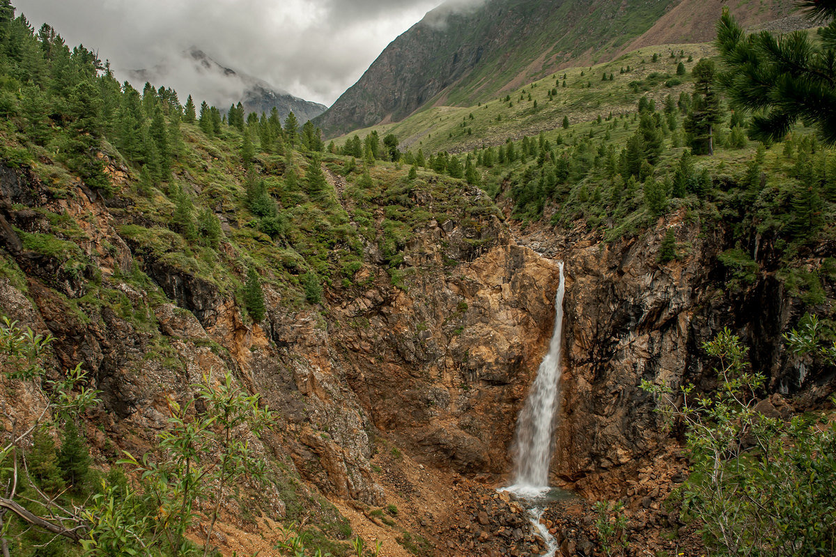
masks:
[[(802, 297), (805, 309), (822, 316), (828, 329), (822, 336), (830, 338), (834, 309), (825, 304), (823, 283), (836, 279), (836, 259), (827, 249), (836, 230), (836, 156), (803, 125), (780, 142), (750, 141), (747, 116), (728, 110), (721, 98), (714, 102), (721, 89), (711, 79), (711, 53), (706, 45), (643, 49), (609, 64), (553, 74), (484, 105), (425, 110), (326, 147), (310, 122), (244, 115), (237, 107), (222, 115), (191, 97), (182, 103), (172, 89), (146, 84), (140, 92), (120, 84), (93, 51), (69, 49), (48, 25), (35, 32), (3, 0), (0, 161), (31, 171), (51, 201), (69, 206), (77, 201), (77, 187), (104, 198), (118, 235), (141, 264), (110, 273), (93, 264), (98, 254), (85, 246), (101, 231), (92, 214), (76, 218), (69, 210), (40, 208), (33, 211), (41, 218), (38, 232), (13, 232), (23, 250), (54, 263), (54, 276), (44, 280), (79, 319), (90, 319), (96, 309), (114, 310), (154, 335), (156, 348), (147, 357), (166, 365), (176, 359), (151, 310), (166, 301), (152, 267), (174, 269), (236, 299), (247, 324), (262, 322), (270, 311), (299, 308), (325, 321), (330, 296), (338, 290), (359, 294), (370, 280), (359, 274), (364, 246), (380, 252), (391, 284), (409, 289), (421, 268), (407, 263), (405, 247), (422, 227), (462, 223), (473, 231), (464, 242), (478, 248), (481, 219), (505, 218), (499, 204), (522, 228), (569, 230), (604, 242), (664, 235), (660, 265), (675, 264), (689, 249), (670, 232), (674, 222), (722, 229), (718, 261), (728, 288), (775, 273)], [(3, 233), (4, 240), (11, 238), (5, 228)], [(455, 268), (456, 259), (444, 256)], [(26, 292), (27, 277), (8, 252), (0, 255), (0, 276)], [(148, 296), (129, 299), (117, 282)], [(72, 285), (73, 295), (64, 284)], [(266, 286), (280, 297), (278, 307), (266, 304)], [(8, 349), (0, 350), (8, 358), (0, 363), (23, 369), (9, 378), (45, 385), (39, 354), (26, 347), (47, 341), (27, 338), (8, 323), (0, 332), (0, 346)], [(189, 434), (187, 408), (174, 412), (175, 434), (161, 436), (161, 445), (179, 460), (127, 457), (120, 467), (113, 455), (111, 462), (91, 466), (85, 441), (74, 432), (82, 406), (96, 395), (84, 385), (77, 369), (64, 384), (43, 391), (56, 413), (54, 422), (42, 425), (53, 434), (62, 429), (66, 437), (56, 448), (53, 437), (38, 431), (33, 447), (13, 440), (0, 451), (4, 480), (9, 470), (24, 469), (23, 459), (31, 464), (21, 489), (2, 498), (46, 516), (56, 504), (92, 505), (94, 512), (74, 516), (83, 525), (80, 534), (54, 532), (61, 537), (6, 514), (10, 525), (3, 536), (13, 553), (46, 554), (35, 546), (47, 544), (53, 554), (113, 554), (104, 546), (110, 543), (114, 551), (132, 544), (135, 554), (195, 554), (185, 533), (195, 519), (191, 504), (207, 495), (190, 491), (197, 488), (187, 480), (178, 483), (182, 455), (189, 453), (188, 443), (181, 443), (185, 437), (177, 437)], [(200, 391), (210, 416), (234, 402), (248, 409), (239, 424), (248, 431), (272, 427), (256, 399), (235, 391), (228, 379), (226, 388), (227, 402)], [(60, 406), (61, 393), (74, 389), (86, 398)], [(207, 442), (221, 442), (206, 435)], [(247, 461), (242, 446), (228, 437), (224, 447), (232, 461)], [(112, 472), (102, 483), (104, 474), (95, 470), (104, 465)], [(129, 482), (123, 468), (144, 475), (145, 483)], [(349, 551), (344, 541), (329, 541), (349, 537), (347, 522), (329, 503), (303, 495), (308, 492), (297, 489), (301, 480), (285, 462), (274, 458), (245, 472), (282, 489), (288, 521), (314, 516), (307, 524), (319, 546), (332, 554)], [(220, 489), (212, 497), (240, 495), (224, 491), (232, 475), (212, 473), (220, 474), (210, 476), (217, 480), (212, 488)], [(54, 497), (38, 502), (44, 494)], [(172, 497), (185, 513), (171, 506), (159, 511)], [(77, 543), (81, 537), (84, 549)]]

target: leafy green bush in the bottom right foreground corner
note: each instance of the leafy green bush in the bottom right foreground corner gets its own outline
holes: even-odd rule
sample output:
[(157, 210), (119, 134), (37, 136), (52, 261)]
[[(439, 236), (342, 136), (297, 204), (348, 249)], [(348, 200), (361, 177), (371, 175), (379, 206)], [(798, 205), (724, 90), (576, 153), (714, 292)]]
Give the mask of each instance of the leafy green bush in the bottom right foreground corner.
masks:
[[(812, 332), (788, 335), (791, 349), (815, 346)], [(669, 386), (642, 382), (665, 422), (686, 426), (691, 479), (683, 486), (684, 512), (701, 522), (706, 544), (718, 554), (832, 554), (836, 427), (757, 411), (764, 376), (747, 369), (747, 348), (730, 330), (703, 349), (717, 362), (714, 395), (683, 386), (684, 402), (675, 406)]]

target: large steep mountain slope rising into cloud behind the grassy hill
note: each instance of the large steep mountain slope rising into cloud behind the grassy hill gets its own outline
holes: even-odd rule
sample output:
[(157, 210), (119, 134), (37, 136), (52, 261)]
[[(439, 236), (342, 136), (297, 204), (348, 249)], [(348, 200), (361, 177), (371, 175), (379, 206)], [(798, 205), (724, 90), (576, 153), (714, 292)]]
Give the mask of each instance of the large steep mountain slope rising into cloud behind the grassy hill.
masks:
[[(761, 23), (780, 14), (777, 4), (742, 2), (732, 11)], [(430, 105), (476, 105), (570, 64), (606, 62), (638, 46), (705, 40), (719, 16), (713, 7), (678, 0), (446, 3), (396, 38), (316, 121), (326, 135), (340, 135)]]

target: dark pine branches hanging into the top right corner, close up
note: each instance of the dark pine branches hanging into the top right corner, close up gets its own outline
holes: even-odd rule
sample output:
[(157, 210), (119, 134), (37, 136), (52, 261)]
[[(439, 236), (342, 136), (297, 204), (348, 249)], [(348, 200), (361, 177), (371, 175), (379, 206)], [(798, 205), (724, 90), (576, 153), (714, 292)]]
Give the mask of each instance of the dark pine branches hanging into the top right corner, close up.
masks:
[(806, 31), (778, 37), (747, 35), (723, 8), (717, 45), (726, 71), (719, 76), (732, 108), (752, 111), (750, 136), (780, 141), (798, 120), (836, 143), (836, 3), (799, 0), (814, 22), (826, 22), (817, 38)]

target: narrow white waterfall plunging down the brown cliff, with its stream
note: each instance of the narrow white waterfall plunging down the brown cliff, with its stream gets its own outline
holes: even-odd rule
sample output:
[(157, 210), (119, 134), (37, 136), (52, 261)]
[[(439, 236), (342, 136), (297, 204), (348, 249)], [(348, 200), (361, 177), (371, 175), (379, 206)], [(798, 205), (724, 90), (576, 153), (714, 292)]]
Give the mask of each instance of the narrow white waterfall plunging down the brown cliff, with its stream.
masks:
[(517, 419), (517, 432), (514, 437), (516, 459), (514, 462), (514, 483), (502, 488), (513, 493), (528, 508), (528, 514), (538, 535), (546, 543), (546, 557), (553, 557), (557, 544), (548, 533), (540, 518), (543, 516), (548, 493), (548, 465), (554, 452), (554, 425), (560, 407), (560, 346), (563, 331), (563, 293), (565, 279), (563, 263), (560, 268), (558, 294), (554, 301), (554, 330), (548, 344), (548, 353), (540, 363), (537, 377), (523, 411)]

